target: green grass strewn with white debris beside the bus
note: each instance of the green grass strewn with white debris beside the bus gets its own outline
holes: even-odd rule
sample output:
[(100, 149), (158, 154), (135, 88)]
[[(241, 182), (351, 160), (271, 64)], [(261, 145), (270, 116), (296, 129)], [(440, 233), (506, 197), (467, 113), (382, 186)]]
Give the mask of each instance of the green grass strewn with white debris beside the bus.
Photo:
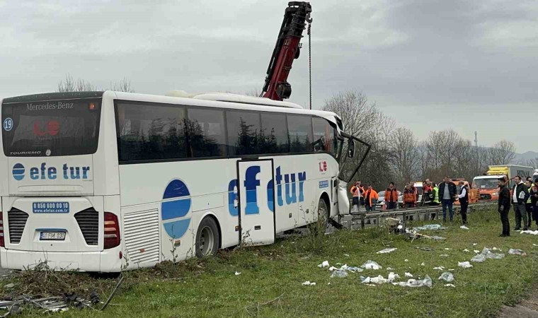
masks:
[[(512, 214), (513, 217), (513, 214)], [(498, 213), (474, 213), (469, 216), (471, 230), (459, 225), (435, 231), (447, 240), (415, 240), (404, 235), (389, 235), (386, 229), (339, 231), (314, 240), (297, 237), (279, 240), (275, 245), (222, 252), (212, 259), (190, 260), (180, 264), (162, 264), (157, 269), (125, 274), (112, 304), (104, 312), (69, 310), (59, 317), (491, 317), (503, 304), (524, 298), (537, 278), (538, 237), (513, 233), (497, 237)], [(425, 232), (427, 233), (427, 232)], [(428, 232), (427, 234), (430, 234)], [(473, 243), (477, 243), (473, 246)], [(390, 254), (380, 249), (397, 247)], [(430, 247), (429, 252), (416, 247)], [(462, 269), (458, 261), (469, 261), (473, 249), (498, 247), (504, 259), (488, 259)], [(450, 250), (445, 250), (450, 248)], [(471, 252), (462, 252), (463, 249)], [(523, 249), (527, 257), (509, 255), (508, 249)], [(536, 252), (535, 252), (536, 251)], [(348, 254), (349, 257), (346, 257)], [(450, 257), (440, 257), (449, 254)], [(317, 267), (328, 260), (348, 266), (360, 266), (368, 259), (383, 266), (379, 271), (350, 273), (347, 278), (330, 278), (327, 269)], [(408, 261), (404, 261), (408, 259)], [(421, 263), (425, 266), (420, 266)], [(438, 281), (435, 266), (455, 269), (456, 288)], [(387, 267), (406, 280), (409, 271), (415, 277), (428, 274), (433, 288), (404, 288), (394, 285), (370, 287), (359, 276), (383, 275)], [(239, 271), (241, 275), (235, 276)], [(74, 274), (69, 274), (73, 277)], [(84, 274), (74, 277), (84, 278)], [(315, 286), (303, 286), (314, 281)], [(329, 284), (330, 283), (330, 284)], [(4, 285), (4, 283), (2, 283)], [(108, 285), (106, 291), (110, 291)], [(4, 292), (6, 290), (3, 290)], [(91, 290), (89, 290), (91, 291)], [(102, 291), (105, 293), (105, 291)], [(281, 296), (280, 298), (278, 298)], [(102, 298), (108, 294), (102, 294)], [(275, 298), (278, 298), (275, 300)], [(270, 302), (270, 300), (274, 300)], [(25, 310), (37, 316), (38, 310)]]

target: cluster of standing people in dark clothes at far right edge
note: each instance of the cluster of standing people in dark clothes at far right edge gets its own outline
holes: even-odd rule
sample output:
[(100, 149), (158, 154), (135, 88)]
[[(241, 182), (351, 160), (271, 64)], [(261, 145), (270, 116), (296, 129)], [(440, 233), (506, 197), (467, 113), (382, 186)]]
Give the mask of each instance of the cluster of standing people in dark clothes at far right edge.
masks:
[(520, 176), (515, 176), (511, 191), (508, 189), (508, 177), (499, 178), (498, 184), (498, 211), (503, 224), (503, 232), (499, 236), (510, 236), (510, 206), (513, 206), (515, 213), (514, 230), (530, 230), (532, 220), (538, 226), (538, 186), (532, 183), (532, 178), (527, 177), (526, 182), (523, 182)]

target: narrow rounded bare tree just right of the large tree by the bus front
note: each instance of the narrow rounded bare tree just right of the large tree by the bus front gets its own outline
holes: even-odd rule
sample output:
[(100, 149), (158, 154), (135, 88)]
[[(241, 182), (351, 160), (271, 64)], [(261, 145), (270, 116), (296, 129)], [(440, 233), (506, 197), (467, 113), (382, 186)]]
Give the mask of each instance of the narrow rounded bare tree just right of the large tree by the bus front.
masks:
[(405, 184), (418, 177), (420, 163), (418, 141), (413, 131), (398, 128), (389, 136), (389, 160), (396, 172), (399, 184)]

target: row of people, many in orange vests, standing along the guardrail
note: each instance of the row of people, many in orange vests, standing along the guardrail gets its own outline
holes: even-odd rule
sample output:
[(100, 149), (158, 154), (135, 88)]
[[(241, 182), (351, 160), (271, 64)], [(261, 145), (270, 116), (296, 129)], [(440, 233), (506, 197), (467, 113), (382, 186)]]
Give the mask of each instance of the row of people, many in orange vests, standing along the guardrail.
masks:
[[(454, 201), (459, 201), (462, 214), (462, 223), (467, 225), (467, 207), (469, 206), (469, 184), (460, 181), (459, 191), (456, 184), (452, 182), (450, 177), (445, 177), (443, 182), (435, 184), (430, 179), (426, 179), (423, 182), (422, 187), (422, 199), (419, 202), (418, 189), (414, 186), (413, 182), (406, 184), (403, 192), (403, 204), (405, 208), (414, 208), (417, 206), (439, 206), (442, 205), (442, 218), (443, 221), (447, 221), (447, 212), (452, 222), (454, 218)], [(360, 181), (355, 182), (350, 190), (353, 195), (352, 205), (353, 212), (359, 212), (360, 206), (365, 206), (366, 211), (375, 211), (375, 205), (379, 199), (379, 195), (372, 189), (372, 184), (368, 184), (367, 189), (362, 186)], [(385, 189), (384, 201), (388, 210), (397, 208), (399, 201), (399, 191), (396, 189), (394, 182), (389, 184), (389, 187)], [(538, 212), (537, 212), (538, 213)], [(435, 218), (435, 215), (433, 216)], [(538, 214), (537, 214), (538, 217)], [(538, 224), (538, 218), (537, 218)]]

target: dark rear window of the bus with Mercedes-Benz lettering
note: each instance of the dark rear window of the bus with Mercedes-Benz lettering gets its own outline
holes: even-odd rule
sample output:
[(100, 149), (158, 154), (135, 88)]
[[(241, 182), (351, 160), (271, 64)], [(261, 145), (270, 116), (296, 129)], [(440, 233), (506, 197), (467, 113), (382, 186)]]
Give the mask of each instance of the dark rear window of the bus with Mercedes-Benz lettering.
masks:
[(95, 153), (100, 117), (101, 98), (4, 102), (4, 154), (39, 157)]

